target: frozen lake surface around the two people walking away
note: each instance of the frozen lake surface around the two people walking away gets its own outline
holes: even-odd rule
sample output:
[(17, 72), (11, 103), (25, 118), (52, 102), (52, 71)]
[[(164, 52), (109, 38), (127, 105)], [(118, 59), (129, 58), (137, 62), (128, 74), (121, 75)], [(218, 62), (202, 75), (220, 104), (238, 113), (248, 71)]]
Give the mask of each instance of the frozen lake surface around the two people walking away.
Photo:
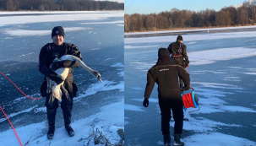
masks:
[[(175, 31), (182, 35), (187, 46), (188, 73), (201, 107), (200, 111), (184, 114), (189, 120), (184, 122), (182, 134), (186, 145), (256, 145), (256, 34), (254, 26), (249, 28), (253, 31), (240, 31), (241, 28), (214, 33)], [(156, 84), (150, 106), (144, 108), (142, 102), (146, 74), (157, 61), (158, 49), (168, 47), (177, 35), (138, 37), (144, 34), (150, 33), (124, 39), (125, 145), (128, 146), (163, 143)], [(173, 142), (173, 119), (170, 123)]]

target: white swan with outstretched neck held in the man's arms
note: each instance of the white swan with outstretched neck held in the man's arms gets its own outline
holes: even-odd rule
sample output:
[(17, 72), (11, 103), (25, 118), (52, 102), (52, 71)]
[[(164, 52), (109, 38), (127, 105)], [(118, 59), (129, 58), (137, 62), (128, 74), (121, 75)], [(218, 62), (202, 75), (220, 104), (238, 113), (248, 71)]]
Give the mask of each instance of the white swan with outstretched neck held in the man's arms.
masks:
[[(53, 62), (58, 62), (58, 61), (63, 61), (63, 60), (79, 62), (79, 64), (85, 70), (87, 70), (90, 74), (92, 74), (95, 78), (98, 78), (102, 82), (101, 74), (98, 73), (97, 71), (89, 68), (87, 65), (85, 65), (84, 62), (81, 61), (81, 59), (79, 57), (74, 57), (73, 55), (64, 55), (63, 57), (61, 57), (59, 59), (55, 58)], [(51, 66), (50, 66), (50, 68), (51, 68)], [(52, 92), (52, 98), (49, 99), (50, 102), (51, 102), (51, 100), (53, 102), (54, 98), (57, 98), (57, 100), (62, 101), (62, 95), (63, 95), (62, 89), (64, 91), (64, 94), (66, 94), (66, 97), (69, 98), (68, 91), (63, 87), (64, 81), (68, 77), (69, 68), (58, 68), (54, 72), (57, 73), (58, 78), (63, 79), (63, 82), (60, 84), (57, 84), (56, 82), (52, 81), (52, 79), (46, 78), (47, 79), (47, 93)]]

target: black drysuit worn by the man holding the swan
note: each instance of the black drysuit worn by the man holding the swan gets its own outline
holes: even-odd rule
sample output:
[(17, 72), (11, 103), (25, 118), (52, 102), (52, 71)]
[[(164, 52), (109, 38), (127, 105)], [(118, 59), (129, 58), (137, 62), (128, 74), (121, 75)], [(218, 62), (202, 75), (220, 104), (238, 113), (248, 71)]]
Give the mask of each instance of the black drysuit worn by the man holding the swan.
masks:
[[(46, 46), (41, 48), (41, 52), (39, 55), (39, 71), (45, 75), (45, 80), (41, 86), (41, 94), (46, 97), (46, 110), (47, 110), (47, 119), (49, 127), (55, 127), (55, 117), (58, 107), (57, 99), (53, 101), (49, 100), (51, 94), (46, 93), (46, 77), (51, 77), (53, 75), (52, 69), (50, 69), (50, 65), (53, 60), (58, 57), (63, 57), (63, 55), (74, 55), (79, 57), (82, 60), (81, 53), (77, 46), (69, 43), (63, 43), (61, 46), (56, 46), (53, 43), (48, 43)], [(64, 81), (64, 88), (68, 91), (68, 96), (63, 94), (61, 108), (63, 109), (63, 118), (65, 125), (69, 125), (71, 123), (71, 111), (73, 108), (73, 98), (76, 96), (77, 86), (74, 83), (73, 79), (73, 68), (79, 68), (79, 62), (75, 61), (65, 61), (68, 63), (69, 73), (68, 78)]]

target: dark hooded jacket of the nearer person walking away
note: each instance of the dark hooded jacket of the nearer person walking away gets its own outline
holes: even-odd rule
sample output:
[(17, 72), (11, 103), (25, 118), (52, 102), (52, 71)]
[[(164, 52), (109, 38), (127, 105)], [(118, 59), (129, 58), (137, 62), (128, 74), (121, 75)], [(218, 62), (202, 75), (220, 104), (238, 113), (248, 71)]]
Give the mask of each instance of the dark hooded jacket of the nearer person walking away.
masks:
[(147, 84), (144, 98), (149, 99), (150, 94), (158, 84), (158, 97), (160, 99), (182, 99), (179, 88), (178, 77), (181, 77), (185, 86), (189, 86), (190, 78), (184, 68), (175, 62), (170, 62), (170, 53), (167, 49), (161, 48), (158, 52), (158, 61), (147, 73)]

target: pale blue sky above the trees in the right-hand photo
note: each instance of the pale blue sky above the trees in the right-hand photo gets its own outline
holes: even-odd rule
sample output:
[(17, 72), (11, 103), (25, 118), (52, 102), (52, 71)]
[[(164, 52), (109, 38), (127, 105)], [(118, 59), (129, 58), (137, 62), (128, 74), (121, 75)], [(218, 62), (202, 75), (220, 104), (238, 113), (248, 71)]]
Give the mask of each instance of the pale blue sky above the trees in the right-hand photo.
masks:
[(206, 8), (216, 11), (221, 8), (238, 5), (248, 0), (125, 0), (125, 14), (150, 14), (170, 11), (172, 8), (188, 9), (192, 11), (205, 10)]

